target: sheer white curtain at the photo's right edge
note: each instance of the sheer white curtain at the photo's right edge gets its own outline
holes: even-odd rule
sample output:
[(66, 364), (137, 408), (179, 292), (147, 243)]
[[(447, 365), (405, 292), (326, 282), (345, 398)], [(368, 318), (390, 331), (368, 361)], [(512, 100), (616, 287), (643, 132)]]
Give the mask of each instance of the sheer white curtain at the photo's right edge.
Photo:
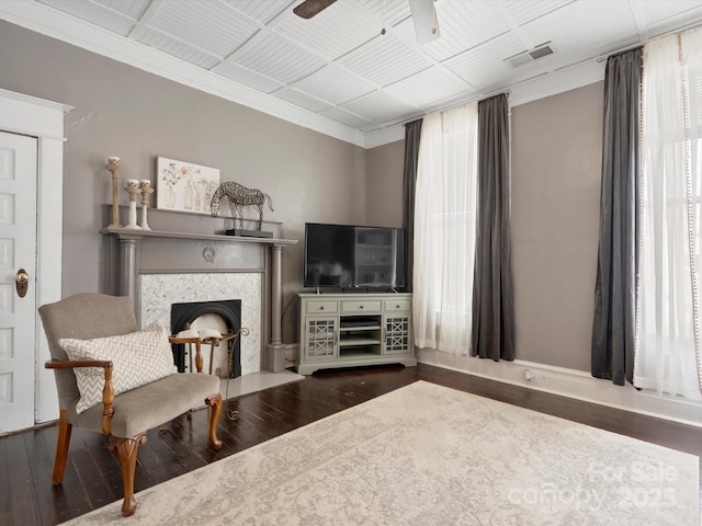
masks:
[(634, 385), (702, 400), (702, 32), (644, 48)]

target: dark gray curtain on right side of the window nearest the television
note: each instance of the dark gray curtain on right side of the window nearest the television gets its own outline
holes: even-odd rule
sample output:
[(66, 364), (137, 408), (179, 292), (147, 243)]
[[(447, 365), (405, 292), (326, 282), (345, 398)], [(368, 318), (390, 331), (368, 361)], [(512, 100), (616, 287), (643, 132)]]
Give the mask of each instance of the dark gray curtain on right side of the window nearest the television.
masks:
[(478, 203), (473, 354), (514, 359), (514, 295), (506, 94), (478, 102)]

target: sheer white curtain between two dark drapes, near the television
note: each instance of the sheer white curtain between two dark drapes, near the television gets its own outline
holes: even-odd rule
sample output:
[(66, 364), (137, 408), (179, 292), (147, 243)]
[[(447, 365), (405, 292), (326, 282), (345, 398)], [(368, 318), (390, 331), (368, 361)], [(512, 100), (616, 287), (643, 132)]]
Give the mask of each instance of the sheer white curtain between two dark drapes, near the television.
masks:
[(424, 117), (415, 197), (416, 345), (471, 351), (477, 102)]

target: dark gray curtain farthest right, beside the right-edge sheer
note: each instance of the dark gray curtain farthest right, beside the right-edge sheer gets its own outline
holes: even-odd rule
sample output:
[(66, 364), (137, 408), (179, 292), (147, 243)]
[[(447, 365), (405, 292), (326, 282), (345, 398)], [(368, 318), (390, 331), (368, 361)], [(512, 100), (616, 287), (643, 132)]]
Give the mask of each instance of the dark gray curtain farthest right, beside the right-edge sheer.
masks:
[(600, 241), (591, 373), (623, 386), (634, 373), (642, 48), (612, 55), (604, 72)]

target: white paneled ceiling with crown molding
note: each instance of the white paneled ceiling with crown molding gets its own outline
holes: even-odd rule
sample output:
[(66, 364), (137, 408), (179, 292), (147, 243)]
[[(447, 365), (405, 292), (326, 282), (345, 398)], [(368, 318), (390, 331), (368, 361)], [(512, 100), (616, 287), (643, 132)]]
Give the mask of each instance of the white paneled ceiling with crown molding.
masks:
[[(361, 146), (569, 70), (597, 80), (598, 57), (702, 23), (692, 0), (437, 0), (440, 37), (419, 45), (407, 0), (310, 20), (301, 1), (2, 0), (0, 18)], [(505, 61), (544, 43), (552, 55)]]

